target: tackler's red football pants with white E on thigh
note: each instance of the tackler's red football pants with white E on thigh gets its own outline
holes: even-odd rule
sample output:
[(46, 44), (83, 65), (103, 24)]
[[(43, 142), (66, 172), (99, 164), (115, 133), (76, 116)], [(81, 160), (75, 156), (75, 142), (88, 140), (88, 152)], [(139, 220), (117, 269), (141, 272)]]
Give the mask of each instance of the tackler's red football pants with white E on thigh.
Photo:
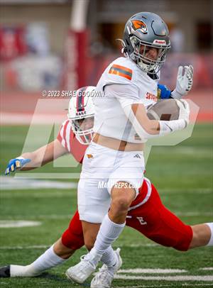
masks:
[[(153, 184), (148, 201), (129, 211), (126, 226), (136, 229), (155, 243), (177, 250), (188, 250), (192, 241), (192, 228), (165, 208)], [(62, 234), (62, 243), (72, 250), (77, 250), (84, 245), (82, 223), (78, 211), (75, 212), (69, 227)]]

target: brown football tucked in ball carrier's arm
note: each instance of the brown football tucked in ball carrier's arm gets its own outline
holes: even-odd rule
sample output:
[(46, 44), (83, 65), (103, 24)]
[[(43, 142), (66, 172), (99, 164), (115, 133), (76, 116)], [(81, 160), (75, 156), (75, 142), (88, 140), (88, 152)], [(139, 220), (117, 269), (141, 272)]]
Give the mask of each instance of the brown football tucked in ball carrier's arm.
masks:
[(148, 108), (147, 116), (151, 120), (177, 120), (180, 108), (175, 99), (161, 99), (150, 108)]

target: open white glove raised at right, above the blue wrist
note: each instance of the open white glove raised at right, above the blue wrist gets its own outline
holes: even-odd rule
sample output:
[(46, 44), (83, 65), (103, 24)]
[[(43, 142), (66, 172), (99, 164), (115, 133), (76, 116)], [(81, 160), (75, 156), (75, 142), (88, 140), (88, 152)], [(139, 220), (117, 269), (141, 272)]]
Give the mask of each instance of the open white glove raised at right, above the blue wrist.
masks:
[(192, 65), (180, 66), (178, 68), (176, 87), (175, 90), (172, 92), (173, 98), (180, 99), (182, 98), (182, 96), (187, 95), (187, 93), (192, 89), (193, 71), (194, 70)]

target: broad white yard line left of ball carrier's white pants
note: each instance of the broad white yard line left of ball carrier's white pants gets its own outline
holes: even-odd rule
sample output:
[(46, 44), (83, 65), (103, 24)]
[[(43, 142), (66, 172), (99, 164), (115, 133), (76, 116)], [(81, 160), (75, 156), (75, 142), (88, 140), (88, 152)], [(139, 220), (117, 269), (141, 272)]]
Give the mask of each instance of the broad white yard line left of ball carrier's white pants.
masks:
[(16, 190), (16, 189), (74, 189), (77, 188), (75, 182), (59, 182), (47, 180), (32, 180), (32, 179), (17, 179), (16, 177), (0, 177), (1, 189)]

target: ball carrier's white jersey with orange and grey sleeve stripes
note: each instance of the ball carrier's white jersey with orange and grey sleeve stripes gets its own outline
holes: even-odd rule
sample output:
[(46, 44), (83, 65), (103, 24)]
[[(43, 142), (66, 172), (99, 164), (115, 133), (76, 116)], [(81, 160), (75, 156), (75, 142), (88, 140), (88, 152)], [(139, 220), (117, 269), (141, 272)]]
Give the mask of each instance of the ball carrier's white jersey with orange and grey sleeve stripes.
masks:
[(143, 143), (132, 123), (124, 113), (124, 107), (155, 104), (158, 97), (158, 79), (143, 72), (129, 57), (119, 57), (107, 67), (97, 84), (102, 97), (94, 97), (94, 132), (125, 140)]

